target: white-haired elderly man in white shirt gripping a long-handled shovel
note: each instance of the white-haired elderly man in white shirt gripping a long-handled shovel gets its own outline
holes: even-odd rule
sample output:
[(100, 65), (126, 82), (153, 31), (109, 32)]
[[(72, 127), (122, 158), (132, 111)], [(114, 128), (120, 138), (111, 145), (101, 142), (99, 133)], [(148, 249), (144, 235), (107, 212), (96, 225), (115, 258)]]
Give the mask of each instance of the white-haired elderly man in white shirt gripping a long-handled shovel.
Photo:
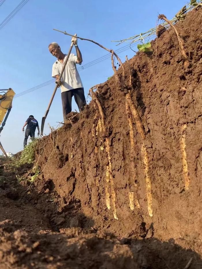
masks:
[(64, 120), (67, 119), (67, 114), (72, 111), (72, 96), (74, 96), (79, 111), (82, 111), (86, 104), (83, 84), (81, 82), (80, 75), (76, 69), (76, 64), (81, 65), (82, 63), (82, 56), (77, 45), (77, 38), (72, 37), (72, 42), (74, 42), (74, 46), (76, 48), (76, 55), (73, 53), (70, 54), (64, 73), (62, 75), (62, 81), (58, 81), (58, 79), (63, 67), (63, 63), (66, 60), (67, 54), (61, 52), (61, 48), (56, 42), (53, 42), (48, 46), (48, 49), (51, 54), (57, 58), (57, 60), (53, 64), (52, 77), (56, 78), (56, 82), (59, 86), (61, 86)]

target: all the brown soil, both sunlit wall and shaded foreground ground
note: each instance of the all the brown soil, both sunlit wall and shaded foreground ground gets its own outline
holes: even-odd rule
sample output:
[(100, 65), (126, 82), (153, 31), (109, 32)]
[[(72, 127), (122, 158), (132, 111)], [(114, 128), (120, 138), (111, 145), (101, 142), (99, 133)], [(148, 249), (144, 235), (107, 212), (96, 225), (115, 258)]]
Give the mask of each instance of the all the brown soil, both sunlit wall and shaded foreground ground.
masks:
[[(113, 76), (96, 92), (105, 134), (96, 130), (99, 110), (91, 101), (82, 114), (40, 140), (36, 161), (42, 173), (33, 184), (25, 180), (19, 184), (15, 177), (26, 177), (22, 171), (31, 166), (15, 172), (1, 167), (1, 268), (184, 269), (190, 259), (187, 268), (202, 268), (201, 10), (189, 12), (184, 22), (176, 24), (189, 68), (183, 65), (172, 29), (152, 41), (152, 55), (137, 53), (130, 60), (132, 99), (146, 134), (153, 216), (147, 209), (143, 141), (133, 118), (131, 150), (125, 106), (128, 87), (120, 89)], [(124, 66), (129, 85), (127, 62)], [(111, 185), (106, 182), (106, 139)], [(133, 210), (129, 193), (132, 202), (139, 202)]]

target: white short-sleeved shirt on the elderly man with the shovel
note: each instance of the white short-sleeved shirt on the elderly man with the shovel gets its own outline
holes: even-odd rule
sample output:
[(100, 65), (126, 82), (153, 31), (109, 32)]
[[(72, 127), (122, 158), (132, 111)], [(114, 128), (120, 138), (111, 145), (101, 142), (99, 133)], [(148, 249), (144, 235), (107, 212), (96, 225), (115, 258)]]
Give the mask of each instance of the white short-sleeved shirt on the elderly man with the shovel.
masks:
[[(67, 54), (65, 54), (64, 62), (66, 60)], [(81, 82), (81, 77), (76, 69), (77, 56), (73, 53), (70, 54), (67, 61), (65, 70), (62, 75), (62, 85), (60, 86), (61, 92), (66, 92), (72, 89), (83, 88)], [(58, 60), (54, 62), (52, 68), (52, 77), (59, 75), (63, 68), (63, 64)]]

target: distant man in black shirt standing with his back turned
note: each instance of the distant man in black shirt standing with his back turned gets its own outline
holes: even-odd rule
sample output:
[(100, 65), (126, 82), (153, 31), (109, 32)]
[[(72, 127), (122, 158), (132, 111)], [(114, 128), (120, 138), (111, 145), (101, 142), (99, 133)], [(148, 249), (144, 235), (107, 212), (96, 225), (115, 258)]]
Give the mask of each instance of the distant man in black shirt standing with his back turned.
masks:
[(24, 139), (24, 148), (27, 146), (27, 139), (30, 136), (31, 140), (34, 139), (35, 136), (35, 130), (36, 127), (38, 129), (38, 135), (39, 135), (39, 124), (38, 121), (35, 120), (33, 115), (30, 115), (29, 118), (26, 120), (24, 126), (23, 126), (23, 132), (24, 132), (24, 127), (27, 125), (27, 128), (25, 130), (25, 139)]

